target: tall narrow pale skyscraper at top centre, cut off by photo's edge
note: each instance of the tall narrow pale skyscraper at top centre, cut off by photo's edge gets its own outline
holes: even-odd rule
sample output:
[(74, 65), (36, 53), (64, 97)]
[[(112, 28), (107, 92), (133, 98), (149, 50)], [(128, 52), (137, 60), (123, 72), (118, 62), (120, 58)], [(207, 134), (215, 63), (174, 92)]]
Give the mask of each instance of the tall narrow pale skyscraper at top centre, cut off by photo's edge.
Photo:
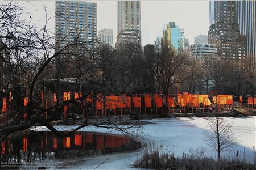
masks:
[(141, 46), (141, 2), (117, 1), (117, 45)]

